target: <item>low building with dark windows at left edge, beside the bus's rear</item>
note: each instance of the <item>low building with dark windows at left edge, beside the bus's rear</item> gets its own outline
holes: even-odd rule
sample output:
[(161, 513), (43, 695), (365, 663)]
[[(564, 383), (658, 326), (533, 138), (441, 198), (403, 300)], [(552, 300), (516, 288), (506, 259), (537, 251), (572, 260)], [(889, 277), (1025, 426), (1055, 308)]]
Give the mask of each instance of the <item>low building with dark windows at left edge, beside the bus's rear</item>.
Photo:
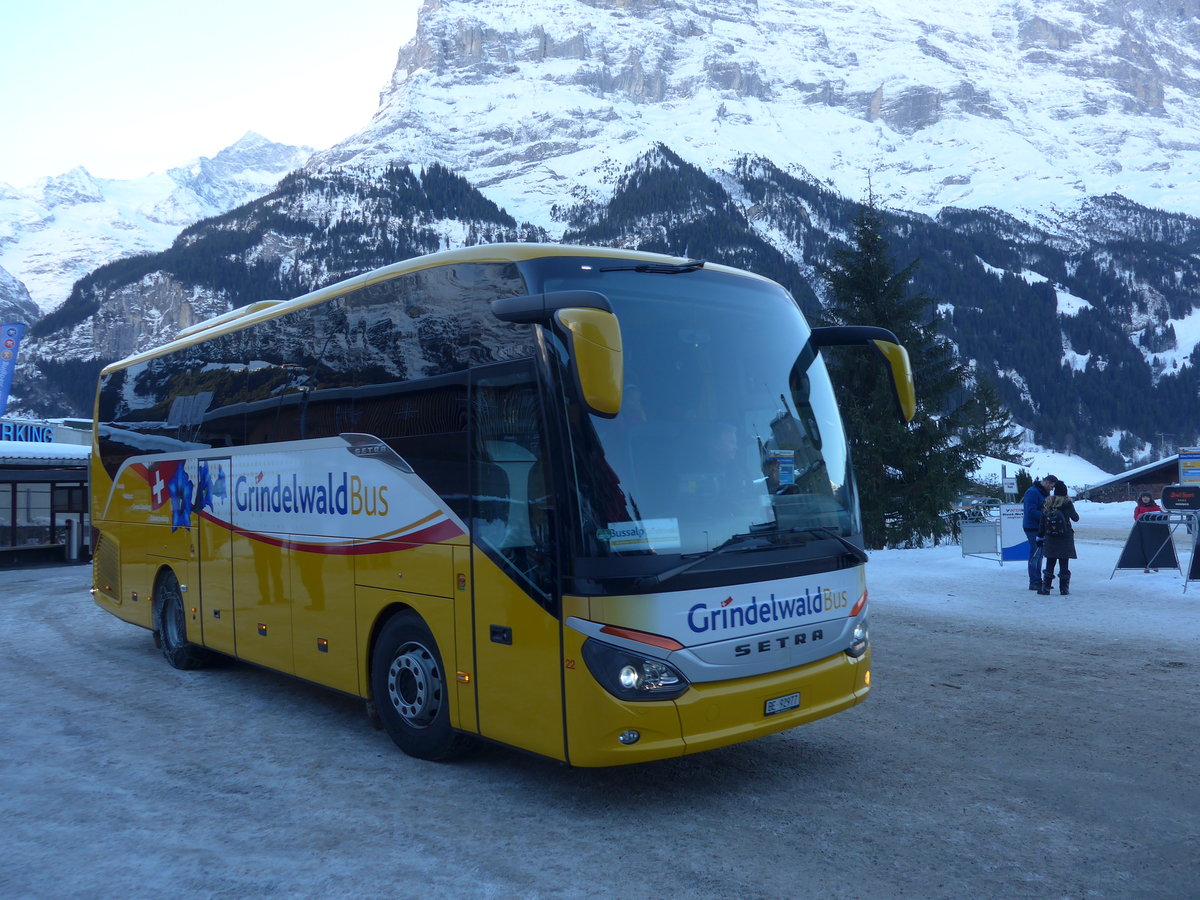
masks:
[(0, 568), (88, 558), (90, 428), (0, 420)]

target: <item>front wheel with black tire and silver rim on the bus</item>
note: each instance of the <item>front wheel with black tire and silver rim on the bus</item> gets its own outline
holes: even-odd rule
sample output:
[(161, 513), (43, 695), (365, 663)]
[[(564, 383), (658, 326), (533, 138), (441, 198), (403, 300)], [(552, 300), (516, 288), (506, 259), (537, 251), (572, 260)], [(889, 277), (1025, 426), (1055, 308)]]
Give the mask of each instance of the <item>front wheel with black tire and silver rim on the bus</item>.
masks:
[(371, 654), (371, 694), (389, 737), (419, 760), (452, 760), (470, 749), (450, 727), (450, 679), (428, 626), (412, 610), (383, 626)]

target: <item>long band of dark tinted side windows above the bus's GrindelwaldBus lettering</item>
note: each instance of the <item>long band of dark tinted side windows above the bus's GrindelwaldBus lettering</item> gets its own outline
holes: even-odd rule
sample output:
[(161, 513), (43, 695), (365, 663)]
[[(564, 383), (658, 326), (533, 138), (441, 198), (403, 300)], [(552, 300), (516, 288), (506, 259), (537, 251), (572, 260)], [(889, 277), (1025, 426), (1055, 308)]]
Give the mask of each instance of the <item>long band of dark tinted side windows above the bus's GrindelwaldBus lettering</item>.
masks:
[(101, 458), (113, 474), (131, 455), (362, 432), (462, 499), (464, 373), (532, 355), (534, 330), (487, 306), (524, 290), (511, 264), (438, 266), (104, 376)]

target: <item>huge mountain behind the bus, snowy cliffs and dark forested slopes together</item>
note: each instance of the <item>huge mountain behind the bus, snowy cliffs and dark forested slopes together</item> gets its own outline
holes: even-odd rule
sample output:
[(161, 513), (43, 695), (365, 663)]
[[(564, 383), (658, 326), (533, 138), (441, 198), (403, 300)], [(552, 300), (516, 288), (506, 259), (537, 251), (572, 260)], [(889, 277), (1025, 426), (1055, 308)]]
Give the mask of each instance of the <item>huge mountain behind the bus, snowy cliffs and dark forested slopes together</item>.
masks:
[(1129, 458), (1195, 427), (1198, 126), (1200, 0), (425, 0), (368, 127), (88, 272), (14, 390), (86, 408), (181, 325), (486, 240), (707, 256), (812, 312), (871, 193), (1018, 420)]

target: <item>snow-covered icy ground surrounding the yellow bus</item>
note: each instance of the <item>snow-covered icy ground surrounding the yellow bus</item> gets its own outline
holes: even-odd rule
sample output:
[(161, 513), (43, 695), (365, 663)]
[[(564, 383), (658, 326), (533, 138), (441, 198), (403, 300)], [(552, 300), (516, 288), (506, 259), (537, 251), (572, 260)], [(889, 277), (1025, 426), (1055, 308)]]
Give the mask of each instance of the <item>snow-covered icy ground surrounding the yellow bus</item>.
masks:
[(1112, 576), (1132, 504), (1079, 510), (1070, 595), (871, 553), (866, 703), (601, 770), (406, 758), (350, 697), (170, 668), (88, 566), (6, 571), (0, 896), (1195, 896), (1200, 582)]

